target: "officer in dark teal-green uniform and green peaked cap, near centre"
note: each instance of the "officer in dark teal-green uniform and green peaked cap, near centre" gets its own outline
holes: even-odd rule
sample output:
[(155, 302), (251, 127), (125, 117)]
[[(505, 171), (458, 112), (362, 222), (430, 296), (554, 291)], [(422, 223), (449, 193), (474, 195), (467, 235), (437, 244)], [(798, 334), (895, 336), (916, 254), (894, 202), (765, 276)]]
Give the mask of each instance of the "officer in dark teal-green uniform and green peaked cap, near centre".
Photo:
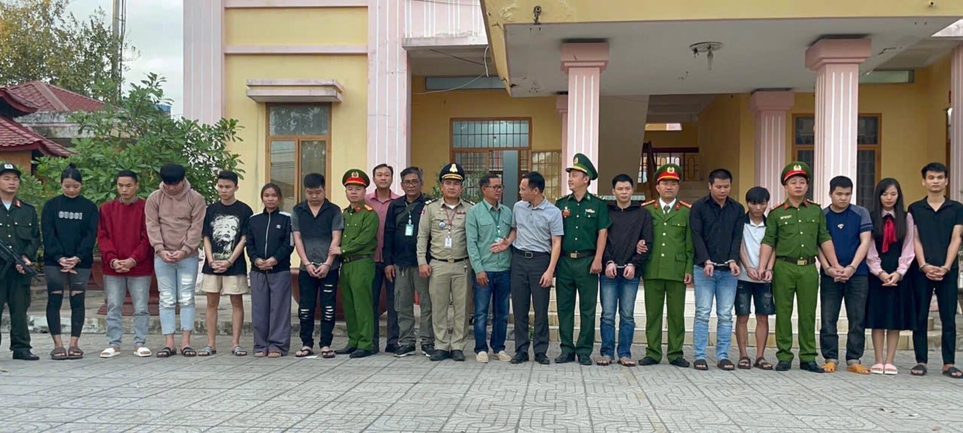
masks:
[[(575, 356), (579, 364), (592, 364), (592, 345), (595, 343), (595, 304), (599, 293), (599, 274), (602, 254), (609, 234), (609, 204), (588, 192), (588, 183), (598, 178), (595, 166), (582, 153), (576, 153), (568, 172), (568, 187), (572, 194), (559, 199), (565, 234), (561, 237), (557, 303), (559, 311), (559, 339), (561, 355), (558, 364), (571, 363)], [(579, 341), (572, 341), (575, 333), (575, 293), (579, 293)]]

